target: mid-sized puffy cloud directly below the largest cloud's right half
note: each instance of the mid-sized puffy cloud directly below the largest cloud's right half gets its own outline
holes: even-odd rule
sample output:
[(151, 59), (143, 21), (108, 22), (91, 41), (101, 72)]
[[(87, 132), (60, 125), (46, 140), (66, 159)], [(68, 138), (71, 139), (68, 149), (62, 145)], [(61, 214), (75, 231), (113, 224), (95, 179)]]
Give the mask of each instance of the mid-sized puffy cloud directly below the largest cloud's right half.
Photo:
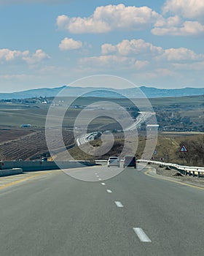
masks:
[(117, 45), (104, 44), (101, 46), (102, 54), (119, 53), (127, 56), (132, 54), (159, 54), (162, 53), (162, 48), (152, 45), (150, 42), (145, 42), (143, 39), (122, 40)]

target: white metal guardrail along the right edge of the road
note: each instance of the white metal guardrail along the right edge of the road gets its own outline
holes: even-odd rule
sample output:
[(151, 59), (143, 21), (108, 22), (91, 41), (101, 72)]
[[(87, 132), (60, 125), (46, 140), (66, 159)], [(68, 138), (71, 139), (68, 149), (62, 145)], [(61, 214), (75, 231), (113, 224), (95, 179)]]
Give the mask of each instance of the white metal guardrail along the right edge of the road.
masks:
[(146, 162), (151, 165), (159, 165), (160, 167), (172, 167), (175, 170), (178, 170), (180, 173), (189, 176), (197, 176), (200, 178), (200, 173), (204, 174), (204, 167), (195, 167), (195, 166), (185, 166), (185, 165), (177, 165), (169, 162), (160, 162), (160, 161), (152, 161), (152, 160), (144, 160), (138, 159), (138, 162)]

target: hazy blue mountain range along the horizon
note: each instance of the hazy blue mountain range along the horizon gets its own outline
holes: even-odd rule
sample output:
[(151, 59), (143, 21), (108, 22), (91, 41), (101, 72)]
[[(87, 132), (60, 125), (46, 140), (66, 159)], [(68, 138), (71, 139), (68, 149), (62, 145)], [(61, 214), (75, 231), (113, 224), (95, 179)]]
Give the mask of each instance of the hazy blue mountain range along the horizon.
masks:
[[(28, 91), (17, 91), (12, 93), (0, 93), (0, 99), (28, 99), (34, 97), (55, 97), (62, 89), (66, 89), (66, 96), (70, 97), (128, 97), (148, 98), (155, 97), (182, 97), (182, 96), (197, 96), (204, 94), (204, 88), (184, 88), (184, 89), (157, 89), (153, 87), (141, 86), (130, 89), (107, 89), (107, 88), (93, 88), (93, 87), (71, 87), (61, 86), (58, 88), (43, 88), (32, 89)], [(144, 94), (141, 94), (141, 91)]]

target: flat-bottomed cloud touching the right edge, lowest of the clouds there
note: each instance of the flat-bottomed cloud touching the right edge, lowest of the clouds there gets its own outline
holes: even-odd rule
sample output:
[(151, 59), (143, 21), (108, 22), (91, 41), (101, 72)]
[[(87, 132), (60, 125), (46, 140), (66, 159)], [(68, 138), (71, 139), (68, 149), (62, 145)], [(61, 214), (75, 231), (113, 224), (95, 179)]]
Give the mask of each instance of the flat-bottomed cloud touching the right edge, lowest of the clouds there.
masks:
[(197, 54), (187, 48), (170, 48), (165, 50), (157, 59), (166, 59), (168, 61), (197, 61), (204, 60), (204, 55)]

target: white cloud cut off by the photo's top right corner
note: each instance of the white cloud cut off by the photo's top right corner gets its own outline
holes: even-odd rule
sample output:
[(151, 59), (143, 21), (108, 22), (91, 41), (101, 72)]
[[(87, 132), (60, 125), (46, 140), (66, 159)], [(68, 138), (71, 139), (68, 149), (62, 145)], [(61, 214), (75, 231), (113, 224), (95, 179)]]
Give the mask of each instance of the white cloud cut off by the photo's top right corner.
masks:
[(203, 0), (168, 0), (163, 12), (176, 13), (184, 18), (202, 18), (204, 15)]

